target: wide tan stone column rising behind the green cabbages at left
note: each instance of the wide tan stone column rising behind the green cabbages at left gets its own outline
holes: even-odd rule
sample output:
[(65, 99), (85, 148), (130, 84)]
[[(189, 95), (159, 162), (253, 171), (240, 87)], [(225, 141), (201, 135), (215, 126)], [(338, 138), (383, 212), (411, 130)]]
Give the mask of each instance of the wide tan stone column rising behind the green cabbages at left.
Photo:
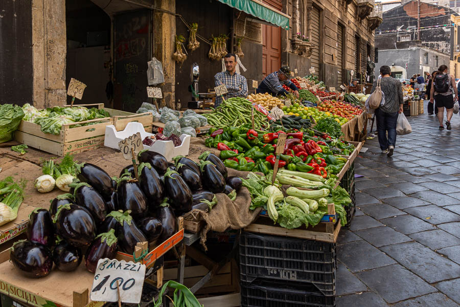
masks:
[(65, 0), (32, 0), (32, 43), (34, 106), (65, 104)]

